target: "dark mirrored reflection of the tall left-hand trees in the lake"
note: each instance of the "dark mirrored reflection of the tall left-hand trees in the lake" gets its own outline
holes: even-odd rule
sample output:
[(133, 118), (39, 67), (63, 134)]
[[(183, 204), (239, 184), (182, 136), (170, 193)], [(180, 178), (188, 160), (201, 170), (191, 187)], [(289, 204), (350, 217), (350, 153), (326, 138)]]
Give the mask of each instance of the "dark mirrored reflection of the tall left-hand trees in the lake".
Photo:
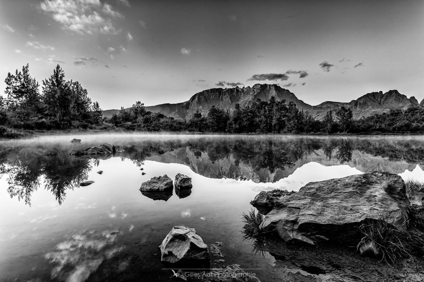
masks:
[[(66, 197), (66, 190), (79, 186), (86, 180), (93, 161), (70, 156), (60, 148), (0, 148), (2, 155), (0, 175), (8, 175), (7, 191), (11, 197), (31, 205), (31, 195), (44, 178), (45, 189), (55, 195), (59, 204)], [(94, 161), (95, 162), (95, 161)]]

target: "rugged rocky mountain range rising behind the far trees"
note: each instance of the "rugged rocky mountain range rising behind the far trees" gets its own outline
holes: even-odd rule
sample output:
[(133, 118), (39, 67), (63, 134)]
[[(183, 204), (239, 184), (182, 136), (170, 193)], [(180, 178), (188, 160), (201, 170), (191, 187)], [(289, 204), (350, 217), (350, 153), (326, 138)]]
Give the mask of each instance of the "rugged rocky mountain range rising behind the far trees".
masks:
[[(166, 116), (180, 120), (189, 120), (196, 111), (206, 115), (212, 106), (231, 112), (236, 103), (239, 103), (241, 107), (251, 106), (257, 99), (267, 101), (271, 96), (275, 96), (277, 101), (285, 100), (287, 103), (293, 101), (298, 109), (311, 113), (320, 120), (324, 118), (324, 115), (329, 110), (338, 110), (342, 106), (350, 108), (353, 112), (353, 117), (357, 119), (388, 112), (391, 109), (405, 109), (420, 105), (414, 97), (408, 99), (407, 96), (397, 90), (390, 90), (386, 93), (382, 93), (382, 91), (368, 93), (349, 103), (326, 101), (317, 106), (311, 106), (299, 100), (293, 93), (281, 88), (279, 85), (255, 84), (252, 87), (243, 88), (212, 88), (196, 93), (188, 101), (150, 106), (146, 107), (146, 110), (161, 112)], [(119, 110), (106, 110), (103, 111), (103, 116), (109, 118), (115, 112), (119, 112)]]

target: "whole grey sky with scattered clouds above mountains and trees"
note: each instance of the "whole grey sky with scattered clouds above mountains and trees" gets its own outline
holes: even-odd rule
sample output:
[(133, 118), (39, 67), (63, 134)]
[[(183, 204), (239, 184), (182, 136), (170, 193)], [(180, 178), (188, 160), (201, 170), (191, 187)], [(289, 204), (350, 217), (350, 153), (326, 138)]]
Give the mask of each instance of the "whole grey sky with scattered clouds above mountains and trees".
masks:
[(421, 101), (424, 1), (0, 0), (0, 54), (2, 93), (8, 72), (29, 63), (42, 85), (59, 64), (103, 110), (256, 83)]

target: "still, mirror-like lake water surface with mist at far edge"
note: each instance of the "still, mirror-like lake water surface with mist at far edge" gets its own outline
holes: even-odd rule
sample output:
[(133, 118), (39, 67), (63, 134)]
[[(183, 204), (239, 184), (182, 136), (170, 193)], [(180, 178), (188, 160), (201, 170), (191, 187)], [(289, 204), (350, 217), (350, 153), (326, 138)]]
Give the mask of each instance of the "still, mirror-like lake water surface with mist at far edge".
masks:
[[(103, 159), (69, 155), (102, 142), (125, 151)], [(256, 194), (374, 170), (424, 180), (423, 165), (424, 137), (99, 134), (0, 141), (0, 281), (170, 281), (158, 246), (176, 225), (195, 228), (208, 245), (223, 243), (225, 263), (212, 259), (212, 267), (237, 263), (255, 268), (262, 281), (281, 281), (274, 257), (255, 255), (242, 238), (241, 214)], [(192, 178), (191, 194), (173, 192), (165, 201), (139, 192), (151, 177), (177, 173)], [(80, 187), (85, 180), (95, 183)]]

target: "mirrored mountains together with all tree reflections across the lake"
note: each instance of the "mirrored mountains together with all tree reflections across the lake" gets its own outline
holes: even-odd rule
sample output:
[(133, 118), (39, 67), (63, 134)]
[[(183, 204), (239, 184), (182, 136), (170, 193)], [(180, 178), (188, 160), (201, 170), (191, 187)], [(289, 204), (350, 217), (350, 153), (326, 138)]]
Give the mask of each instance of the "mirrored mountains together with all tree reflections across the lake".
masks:
[[(177, 163), (209, 178), (257, 183), (279, 181), (308, 162), (326, 166), (347, 164), (362, 172), (401, 173), (413, 170), (416, 164), (424, 167), (423, 143), (408, 137), (223, 136), (141, 141), (122, 138), (113, 142), (125, 150), (119, 153), (121, 159), (130, 159), (137, 166), (145, 160)], [(98, 142), (84, 147), (92, 145)], [(0, 176), (7, 175), (10, 196), (30, 204), (32, 193), (43, 183), (62, 203), (66, 190), (87, 180), (92, 167), (100, 162), (98, 158), (70, 156), (74, 150), (63, 143), (0, 143)]]

